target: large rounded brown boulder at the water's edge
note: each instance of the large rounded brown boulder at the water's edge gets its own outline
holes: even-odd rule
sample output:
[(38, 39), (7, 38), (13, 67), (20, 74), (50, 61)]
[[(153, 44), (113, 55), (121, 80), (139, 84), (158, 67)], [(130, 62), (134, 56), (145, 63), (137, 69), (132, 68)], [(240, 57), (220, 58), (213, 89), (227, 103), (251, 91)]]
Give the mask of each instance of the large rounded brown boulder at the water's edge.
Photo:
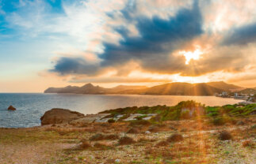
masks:
[(44, 116), (40, 118), (41, 125), (52, 125), (68, 123), (70, 121), (85, 117), (84, 114), (80, 114), (71, 110), (64, 110), (54, 108), (44, 113)]

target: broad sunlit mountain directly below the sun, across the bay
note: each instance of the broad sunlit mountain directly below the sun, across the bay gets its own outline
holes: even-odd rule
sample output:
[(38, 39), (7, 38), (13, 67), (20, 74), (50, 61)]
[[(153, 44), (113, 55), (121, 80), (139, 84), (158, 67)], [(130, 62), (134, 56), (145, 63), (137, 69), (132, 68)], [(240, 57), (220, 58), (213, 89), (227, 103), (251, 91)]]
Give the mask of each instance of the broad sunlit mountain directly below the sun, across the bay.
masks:
[(214, 95), (224, 90), (214, 88), (208, 84), (170, 83), (151, 88), (120, 91), (120, 94), (143, 95)]

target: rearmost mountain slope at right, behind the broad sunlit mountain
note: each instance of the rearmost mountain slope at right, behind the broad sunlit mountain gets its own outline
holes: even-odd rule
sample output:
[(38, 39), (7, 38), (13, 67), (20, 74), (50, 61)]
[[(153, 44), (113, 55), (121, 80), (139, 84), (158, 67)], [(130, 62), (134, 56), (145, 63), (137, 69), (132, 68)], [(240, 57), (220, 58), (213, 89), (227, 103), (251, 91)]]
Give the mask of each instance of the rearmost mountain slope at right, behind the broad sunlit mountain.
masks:
[(207, 83), (208, 85), (214, 87), (214, 88), (219, 88), (222, 89), (224, 91), (241, 91), (245, 88), (236, 86), (234, 84), (227, 84), (224, 81), (216, 81), (216, 82), (209, 82)]

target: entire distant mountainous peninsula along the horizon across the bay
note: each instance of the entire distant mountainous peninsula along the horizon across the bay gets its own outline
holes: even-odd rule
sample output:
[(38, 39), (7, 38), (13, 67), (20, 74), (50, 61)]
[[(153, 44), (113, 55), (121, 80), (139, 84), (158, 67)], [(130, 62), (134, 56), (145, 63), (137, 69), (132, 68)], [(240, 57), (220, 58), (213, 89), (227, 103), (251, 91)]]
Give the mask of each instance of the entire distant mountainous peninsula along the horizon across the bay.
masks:
[[(125, 94), (125, 95), (215, 95), (216, 93), (240, 92), (246, 88), (227, 84), (224, 81), (210, 83), (168, 83), (151, 88), (146, 86), (119, 85), (115, 88), (102, 88), (93, 84), (85, 84), (82, 87), (67, 86), (64, 88), (48, 88), (44, 93), (75, 93), (75, 94)], [(250, 89), (250, 91), (255, 91)]]

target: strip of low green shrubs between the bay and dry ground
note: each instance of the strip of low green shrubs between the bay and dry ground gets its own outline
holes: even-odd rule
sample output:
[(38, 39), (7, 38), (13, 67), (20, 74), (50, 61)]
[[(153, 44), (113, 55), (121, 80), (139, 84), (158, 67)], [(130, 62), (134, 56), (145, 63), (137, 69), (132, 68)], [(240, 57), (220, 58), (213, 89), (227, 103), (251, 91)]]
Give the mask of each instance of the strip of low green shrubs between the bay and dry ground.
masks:
[(109, 114), (107, 117), (115, 117), (119, 114), (123, 115), (118, 121), (123, 121), (131, 114), (143, 114), (136, 117), (138, 121), (132, 121), (132, 125), (149, 124), (144, 121), (147, 117), (144, 114), (157, 114), (152, 117), (150, 122), (175, 121), (184, 119), (196, 119), (198, 117), (208, 117), (214, 125), (224, 125), (225, 122), (235, 123), (235, 117), (245, 117), (254, 114), (256, 104), (249, 105), (226, 105), (226, 106), (204, 106), (193, 100), (182, 101), (176, 106), (132, 106), (118, 108), (115, 110), (105, 110), (101, 114)]

